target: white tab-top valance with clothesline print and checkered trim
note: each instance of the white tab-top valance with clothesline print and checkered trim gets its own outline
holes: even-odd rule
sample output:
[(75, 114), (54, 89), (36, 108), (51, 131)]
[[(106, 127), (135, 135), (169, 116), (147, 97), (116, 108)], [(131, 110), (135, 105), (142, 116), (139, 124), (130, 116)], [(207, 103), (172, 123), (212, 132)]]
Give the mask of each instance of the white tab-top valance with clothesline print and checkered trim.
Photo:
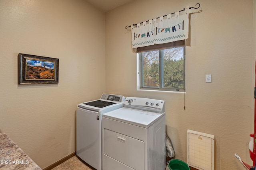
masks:
[(182, 13), (175, 12), (175, 16), (168, 14), (166, 17), (138, 23), (136, 27), (131, 26), (132, 48), (187, 39), (189, 8)]

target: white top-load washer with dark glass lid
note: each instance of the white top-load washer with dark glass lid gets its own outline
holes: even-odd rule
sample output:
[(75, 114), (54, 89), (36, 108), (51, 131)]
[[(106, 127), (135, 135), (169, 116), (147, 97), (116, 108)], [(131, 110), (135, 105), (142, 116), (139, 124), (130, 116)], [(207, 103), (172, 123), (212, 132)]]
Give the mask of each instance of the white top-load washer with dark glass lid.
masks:
[(97, 170), (102, 170), (102, 114), (123, 107), (124, 100), (102, 94), (99, 100), (77, 105), (76, 155)]

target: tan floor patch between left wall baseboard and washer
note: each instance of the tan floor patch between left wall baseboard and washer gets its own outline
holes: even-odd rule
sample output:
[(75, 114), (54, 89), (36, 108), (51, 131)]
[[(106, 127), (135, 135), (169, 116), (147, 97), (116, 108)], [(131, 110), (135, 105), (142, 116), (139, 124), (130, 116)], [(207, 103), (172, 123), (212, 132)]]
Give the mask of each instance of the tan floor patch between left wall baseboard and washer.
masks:
[(86, 164), (81, 162), (76, 156), (66, 160), (62, 164), (56, 166), (52, 170), (92, 170)]

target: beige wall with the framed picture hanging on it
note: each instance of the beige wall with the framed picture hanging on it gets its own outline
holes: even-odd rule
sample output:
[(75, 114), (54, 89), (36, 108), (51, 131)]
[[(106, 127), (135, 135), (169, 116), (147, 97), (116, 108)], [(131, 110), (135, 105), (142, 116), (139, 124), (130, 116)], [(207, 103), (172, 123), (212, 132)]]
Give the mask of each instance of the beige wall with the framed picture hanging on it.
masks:
[[(75, 152), (76, 105), (105, 92), (104, 13), (84, 0), (0, 0), (0, 129), (41, 168)], [(59, 59), (59, 83), (18, 85), (18, 53)]]

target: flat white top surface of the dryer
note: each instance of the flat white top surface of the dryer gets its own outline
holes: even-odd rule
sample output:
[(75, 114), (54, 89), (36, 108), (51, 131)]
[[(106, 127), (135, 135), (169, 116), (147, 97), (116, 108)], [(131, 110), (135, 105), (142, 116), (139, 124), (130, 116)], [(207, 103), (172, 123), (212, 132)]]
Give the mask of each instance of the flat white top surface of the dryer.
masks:
[(164, 115), (165, 113), (154, 113), (122, 107), (120, 109), (104, 113), (102, 117), (148, 128)]

